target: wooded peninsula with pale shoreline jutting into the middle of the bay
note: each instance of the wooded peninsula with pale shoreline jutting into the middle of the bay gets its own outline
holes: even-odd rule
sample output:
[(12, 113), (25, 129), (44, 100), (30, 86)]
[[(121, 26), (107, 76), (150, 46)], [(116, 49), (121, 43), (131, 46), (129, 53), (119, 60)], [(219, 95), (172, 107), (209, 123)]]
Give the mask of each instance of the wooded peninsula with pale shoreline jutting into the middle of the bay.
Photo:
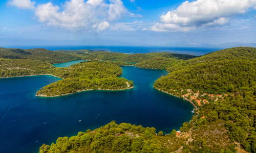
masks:
[(132, 81), (118, 78), (122, 69), (110, 61), (74, 64), (56, 69), (53, 74), (63, 80), (41, 88), (36, 95), (58, 96), (91, 89), (120, 90), (133, 87)]

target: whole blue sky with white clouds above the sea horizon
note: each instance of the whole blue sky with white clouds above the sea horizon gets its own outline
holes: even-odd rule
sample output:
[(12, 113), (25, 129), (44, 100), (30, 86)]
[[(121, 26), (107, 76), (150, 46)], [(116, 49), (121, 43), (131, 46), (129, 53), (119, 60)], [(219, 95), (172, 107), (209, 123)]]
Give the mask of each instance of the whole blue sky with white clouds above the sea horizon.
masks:
[(256, 0), (2, 0), (0, 46), (256, 44)]

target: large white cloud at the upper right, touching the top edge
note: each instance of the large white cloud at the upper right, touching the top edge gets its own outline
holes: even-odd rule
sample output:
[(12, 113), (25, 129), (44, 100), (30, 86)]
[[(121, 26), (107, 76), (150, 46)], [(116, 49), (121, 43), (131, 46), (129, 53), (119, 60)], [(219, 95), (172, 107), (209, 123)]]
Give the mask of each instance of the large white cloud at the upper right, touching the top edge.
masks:
[(196, 27), (225, 25), (229, 18), (256, 9), (256, 0), (197, 0), (184, 2), (160, 17), (153, 31), (190, 31)]

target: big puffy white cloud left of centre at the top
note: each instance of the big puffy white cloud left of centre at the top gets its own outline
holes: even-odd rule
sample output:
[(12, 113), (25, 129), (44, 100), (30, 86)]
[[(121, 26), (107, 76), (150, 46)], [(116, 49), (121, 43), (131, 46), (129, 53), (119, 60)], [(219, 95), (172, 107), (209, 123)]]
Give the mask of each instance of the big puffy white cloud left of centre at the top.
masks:
[(108, 29), (112, 21), (132, 13), (126, 10), (120, 0), (70, 0), (60, 7), (52, 3), (38, 5), (35, 15), (39, 22), (50, 26), (69, 30), (95, 30), (96, 32)]

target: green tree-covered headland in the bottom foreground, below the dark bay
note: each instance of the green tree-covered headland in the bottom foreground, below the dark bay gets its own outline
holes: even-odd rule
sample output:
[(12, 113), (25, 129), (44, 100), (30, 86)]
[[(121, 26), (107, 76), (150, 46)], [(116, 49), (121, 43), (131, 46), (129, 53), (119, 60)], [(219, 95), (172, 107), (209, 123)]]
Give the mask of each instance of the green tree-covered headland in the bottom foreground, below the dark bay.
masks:
[[(40, 153), (52, 152), (172, 152), (184, 144), (184, 138), (157, 136), (154, 127), (112, 121), (94, 131), (58, 138), (51, 145), (43, 144)], [(176, 145), (173, 145), (176, 144)]]

